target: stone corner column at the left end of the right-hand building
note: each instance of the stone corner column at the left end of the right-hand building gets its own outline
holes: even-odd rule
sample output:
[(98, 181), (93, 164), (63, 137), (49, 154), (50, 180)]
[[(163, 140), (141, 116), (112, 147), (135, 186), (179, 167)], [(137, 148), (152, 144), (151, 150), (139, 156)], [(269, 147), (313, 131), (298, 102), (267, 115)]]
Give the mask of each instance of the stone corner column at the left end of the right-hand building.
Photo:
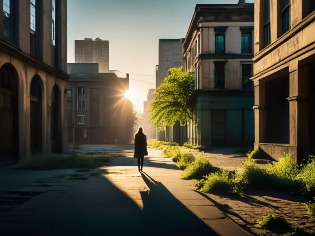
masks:
[(255, 143), (254, 148), (258, 148), (259, 143), (266, 142), (266, 84), (261, 81), (254, 81), (255, 85)]

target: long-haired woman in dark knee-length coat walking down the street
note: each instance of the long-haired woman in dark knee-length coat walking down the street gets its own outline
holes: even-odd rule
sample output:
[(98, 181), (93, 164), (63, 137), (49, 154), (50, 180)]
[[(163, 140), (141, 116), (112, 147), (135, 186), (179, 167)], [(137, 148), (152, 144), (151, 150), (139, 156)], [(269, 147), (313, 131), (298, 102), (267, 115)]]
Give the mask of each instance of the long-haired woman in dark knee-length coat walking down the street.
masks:
[[(143, 128), (140, 127), (138, 131), (135, 133), (135, 154), (134, 158), (138, 159), (138, 169), (139, 172), (142, 171), (143, 168), (143, 160), (144, 156), (148, 155), (148, 150), (146, 149), (146, 133)], [(141, 160), (141, 168), (140, 168), (140, 160)]]

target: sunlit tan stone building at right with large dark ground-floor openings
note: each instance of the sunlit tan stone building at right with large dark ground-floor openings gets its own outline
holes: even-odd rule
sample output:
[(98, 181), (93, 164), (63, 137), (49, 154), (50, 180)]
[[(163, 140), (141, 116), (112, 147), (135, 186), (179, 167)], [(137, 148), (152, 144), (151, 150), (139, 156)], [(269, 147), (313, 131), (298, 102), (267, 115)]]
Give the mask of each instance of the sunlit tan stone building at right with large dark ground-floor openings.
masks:
[(315, 153), (315, 1), (255, 0), (255, 149)]

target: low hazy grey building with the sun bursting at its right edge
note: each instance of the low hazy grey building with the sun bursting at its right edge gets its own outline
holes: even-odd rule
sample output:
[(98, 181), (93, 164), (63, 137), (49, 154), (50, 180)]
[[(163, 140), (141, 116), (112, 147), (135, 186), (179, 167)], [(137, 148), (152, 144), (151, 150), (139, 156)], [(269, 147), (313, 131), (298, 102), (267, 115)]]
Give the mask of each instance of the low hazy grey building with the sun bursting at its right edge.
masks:
[[(119, 75), (120, 72), (116, 71)], [(116, 73), (99, 73), (98, 63), (68, 63), (67, 117), (68, 142), (80, 144), (127, 143), (129, 88)], [(133, 132), (130, 129), (130, 132)], [(115, 141), (116, 140), (116, 141)]]

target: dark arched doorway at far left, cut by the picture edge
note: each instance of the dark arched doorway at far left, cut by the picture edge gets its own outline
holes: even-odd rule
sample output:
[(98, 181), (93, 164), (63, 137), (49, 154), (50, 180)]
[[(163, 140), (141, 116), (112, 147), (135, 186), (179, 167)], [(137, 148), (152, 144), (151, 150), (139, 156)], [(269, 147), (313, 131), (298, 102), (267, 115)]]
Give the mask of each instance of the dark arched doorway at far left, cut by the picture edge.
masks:
[(18, 86), (13, 65), (0, 68), (0, 161), (17, 161), (19, 155)]

